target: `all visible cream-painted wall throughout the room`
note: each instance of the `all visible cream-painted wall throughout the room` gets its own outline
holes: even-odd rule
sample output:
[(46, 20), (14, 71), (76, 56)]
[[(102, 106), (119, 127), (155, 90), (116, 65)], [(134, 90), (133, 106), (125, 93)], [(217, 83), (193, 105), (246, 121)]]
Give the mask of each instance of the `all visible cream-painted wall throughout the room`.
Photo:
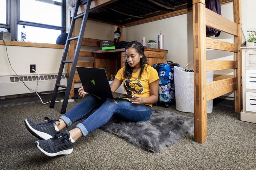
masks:
[[(256, 28), (256, 19), (253, 14), (255, 6), (256, 0), (242, 0), (243, 27)], [(233, 3), (222, 5), (222, 13), (224, 17), (233, 20)], [(67, 11), (67, 30), (69, 29), (68, 14), (69, 12)], [(78, 35), (80, 23), (81, 19), (76, 21), (76, 35)], [(113, 25), (88, 20), (84, 37), (102, 40), (113, 40), (113, 32), (115, 29), (116, 27)], [(192, 12), (159, 21), (154, 21), (151, 23), (123, 28), (123, 40), (137, 40), (142, 42), (142, 37), (146, 37), (146, 40), (157, 40), (160, 31), (162, 31), (162, 34), (165, 35), (164, 48), (169, 50), (167, 54), (168, 60), (180, 63), (181, 66), (184, 66), (193, 59)], [(233, 36), (225, 33), (221, 33), (221, 36), (217, 39), (233, 42)], [(58, 73), (63, 49), (21, 46), (8, 46), (7, 48), (11, 64), (19, 75), (31, 74), (29, 70), (30, 64), (36, 64), (36, 71), (39, 74)], [(98, 49), (99, 48), (97, 47), (82, 47), (81, 51), (92, 51)], [(233, 59), (233, 55), (230, 52), (217, 50), (207, 51), (207, 59), (216, 59), (215, 56), (221, 56), (222, 58), (220, 59)], [(93, 59), (80, 58), (79, 61), (93, 62)], [(192, 69), (193, 64), (191, 64), (189, 68)], [(66, 67), (64, 69), (64, 73), (66, 73)], [(228, 70), (226, 73), (232, 74), (232, 70)], [(0, 76), (2, 75), (14, 75), (7, 60), (4, 45), (0, 45)]]

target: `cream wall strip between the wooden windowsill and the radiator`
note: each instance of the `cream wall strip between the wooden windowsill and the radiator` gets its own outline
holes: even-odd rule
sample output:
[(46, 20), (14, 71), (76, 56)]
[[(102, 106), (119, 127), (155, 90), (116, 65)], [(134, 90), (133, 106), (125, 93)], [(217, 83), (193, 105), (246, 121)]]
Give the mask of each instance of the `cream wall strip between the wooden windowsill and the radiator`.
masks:
[[(18, 75), (32, 75), (30, 64), (36, 64), (36, 72), (39, 74), (58, 73), (63, 54), (63, 49), (55, 48), (7, 46), (7, 50), (12, 68)], [(14, 74), (7, 59), (5, 46), (0, 45), (0, 76)]]

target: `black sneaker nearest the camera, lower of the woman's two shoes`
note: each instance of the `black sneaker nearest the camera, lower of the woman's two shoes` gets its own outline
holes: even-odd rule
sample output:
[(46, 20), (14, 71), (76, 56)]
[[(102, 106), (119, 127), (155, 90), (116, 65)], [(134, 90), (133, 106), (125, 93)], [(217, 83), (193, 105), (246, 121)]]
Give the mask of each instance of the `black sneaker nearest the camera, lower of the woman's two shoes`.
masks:
[(47, 156), (68, 155), (73, 152), (74, 143), (69, 139), (69, 131), (65, 130), (48, 140), (38, 140), (36, 147)]

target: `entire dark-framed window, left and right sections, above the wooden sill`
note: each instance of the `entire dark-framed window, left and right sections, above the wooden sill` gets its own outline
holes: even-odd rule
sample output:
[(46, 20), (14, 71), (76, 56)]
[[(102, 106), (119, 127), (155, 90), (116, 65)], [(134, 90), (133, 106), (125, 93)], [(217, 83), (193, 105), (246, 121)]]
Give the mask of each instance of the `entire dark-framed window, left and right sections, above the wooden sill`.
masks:
[(10, 29), (12, 40), (21, 40), (23, 25), (27, 42), (55, 44), (66, 30), (66, 0), (0, 0), (0, 4), (0, 27)]

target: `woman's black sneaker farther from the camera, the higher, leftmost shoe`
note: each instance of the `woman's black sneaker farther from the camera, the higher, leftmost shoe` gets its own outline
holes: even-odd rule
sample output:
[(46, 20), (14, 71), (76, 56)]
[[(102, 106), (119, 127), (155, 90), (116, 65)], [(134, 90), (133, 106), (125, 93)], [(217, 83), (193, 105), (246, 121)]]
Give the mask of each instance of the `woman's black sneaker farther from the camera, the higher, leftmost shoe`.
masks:
[[(56, 134), (59, 134), (60, 131), (58, 128), (54, 126), (55, 122), (59, 122), (59, 120), (53, 120), (48, 117), (44, 118), (46, 123), (34, 123), (30, 119), (26, 119), (25, 126), (29, 130), (29, 132), (37, 137), (38, 139), (50, 139), (53, 138)], [(56, 124), (55, 124), (56, 125)]]

